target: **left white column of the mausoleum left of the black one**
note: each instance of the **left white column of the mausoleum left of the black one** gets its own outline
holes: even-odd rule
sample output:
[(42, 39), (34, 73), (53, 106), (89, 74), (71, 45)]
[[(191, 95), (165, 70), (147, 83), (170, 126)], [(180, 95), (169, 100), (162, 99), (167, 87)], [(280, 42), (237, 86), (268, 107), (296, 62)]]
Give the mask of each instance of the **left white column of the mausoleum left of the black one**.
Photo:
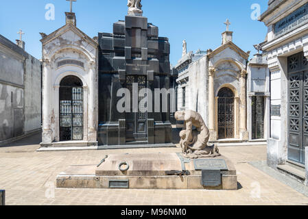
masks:
[(50, 99), (51, 99), (51, 62), (50, 60), (43, 60), (43, 133), (42, 144), (49, 146), (52, 140), (51, 131), (51, 113), (50, 113)]

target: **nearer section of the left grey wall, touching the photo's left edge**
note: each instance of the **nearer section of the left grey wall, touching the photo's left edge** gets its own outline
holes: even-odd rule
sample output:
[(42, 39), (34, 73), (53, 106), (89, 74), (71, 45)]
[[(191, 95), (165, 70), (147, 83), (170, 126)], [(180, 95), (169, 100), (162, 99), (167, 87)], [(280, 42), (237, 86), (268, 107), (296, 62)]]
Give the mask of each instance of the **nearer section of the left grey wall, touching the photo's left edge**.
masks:
[[(0, 141), (3, 141), (24, 132), (24, 57), (19, 50), (14, 51), (12, 42), (0, 37)], [(5, 47), (11, 44), (13, 49)]]

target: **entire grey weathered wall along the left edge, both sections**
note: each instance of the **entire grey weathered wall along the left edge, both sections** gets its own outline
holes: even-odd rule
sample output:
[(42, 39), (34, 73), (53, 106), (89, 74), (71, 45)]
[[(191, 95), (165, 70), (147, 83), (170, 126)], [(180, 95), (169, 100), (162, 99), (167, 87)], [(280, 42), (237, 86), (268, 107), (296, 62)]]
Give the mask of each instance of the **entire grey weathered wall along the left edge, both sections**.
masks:
[(0, 35), (0, 141), (40, 128), (40, 61)]

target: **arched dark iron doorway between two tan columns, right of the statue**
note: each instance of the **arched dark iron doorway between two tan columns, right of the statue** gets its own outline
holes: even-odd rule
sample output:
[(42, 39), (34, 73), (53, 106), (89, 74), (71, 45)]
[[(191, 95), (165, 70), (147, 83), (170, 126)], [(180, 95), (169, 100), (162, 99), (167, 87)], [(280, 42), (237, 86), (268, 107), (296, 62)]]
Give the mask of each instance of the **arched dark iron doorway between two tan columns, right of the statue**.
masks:
[(218, 138), (235, 138), (234, 93), (230, 88), (218, 92)]

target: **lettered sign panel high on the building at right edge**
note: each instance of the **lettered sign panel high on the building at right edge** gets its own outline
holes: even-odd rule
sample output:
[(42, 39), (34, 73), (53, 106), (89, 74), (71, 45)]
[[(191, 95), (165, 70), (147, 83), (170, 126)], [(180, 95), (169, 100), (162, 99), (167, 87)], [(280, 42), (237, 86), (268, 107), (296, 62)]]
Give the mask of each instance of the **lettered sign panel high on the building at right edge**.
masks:
[(287, 34), (308, 23), (308, 3), (274, 25), (275, 37)]

